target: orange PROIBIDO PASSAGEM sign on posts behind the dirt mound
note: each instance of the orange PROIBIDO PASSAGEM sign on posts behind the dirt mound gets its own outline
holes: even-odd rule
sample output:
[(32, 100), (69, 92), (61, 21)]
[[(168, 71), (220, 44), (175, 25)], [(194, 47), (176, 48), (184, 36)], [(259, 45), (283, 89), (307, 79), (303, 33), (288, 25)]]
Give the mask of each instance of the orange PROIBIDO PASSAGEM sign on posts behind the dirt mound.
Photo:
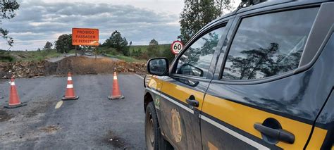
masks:
[[(77, 46), (99, 46), (99, 30), (72, 28), (72, 45), (75, 45), (75, 56), (77, 56)], [(95, 58), (96, 57), (97, 54), (95, 53)]]

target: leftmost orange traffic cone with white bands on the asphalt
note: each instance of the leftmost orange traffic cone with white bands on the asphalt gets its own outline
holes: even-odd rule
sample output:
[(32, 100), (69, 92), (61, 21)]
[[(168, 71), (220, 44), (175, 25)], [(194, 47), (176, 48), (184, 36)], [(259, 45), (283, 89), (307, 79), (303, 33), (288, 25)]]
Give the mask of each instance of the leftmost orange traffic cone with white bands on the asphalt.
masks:
[(27, 104), (23, 104), (20, 102), (20, 98), (18, 97), (18, 91), (16, 90), (16, 85), (14, 82), (14, 77), (11, 77), (11, 94), (9, 95), (8, 105), (4, 106), (5, 108), (18, 108), (20, 106), (26, 106)]

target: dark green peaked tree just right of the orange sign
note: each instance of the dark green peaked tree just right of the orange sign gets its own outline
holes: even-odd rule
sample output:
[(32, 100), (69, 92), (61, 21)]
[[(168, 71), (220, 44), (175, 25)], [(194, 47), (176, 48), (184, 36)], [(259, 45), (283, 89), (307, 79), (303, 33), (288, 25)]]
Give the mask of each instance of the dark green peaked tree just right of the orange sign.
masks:
[(114, 48), (116, 51), (121, 52), (125, 56), (129, 56), (130, 54), (128, 41), (125, 37), (122, 37), (120, 32), (117, 30), (114, 31), (108, 39), (106, 39), (102, 46)]

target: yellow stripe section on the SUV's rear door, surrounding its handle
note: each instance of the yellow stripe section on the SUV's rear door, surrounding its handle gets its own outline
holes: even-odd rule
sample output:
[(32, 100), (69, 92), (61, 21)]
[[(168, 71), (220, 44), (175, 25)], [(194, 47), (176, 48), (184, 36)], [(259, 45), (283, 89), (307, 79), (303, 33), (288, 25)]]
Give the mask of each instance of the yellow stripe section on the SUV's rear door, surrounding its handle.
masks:
[[(202, 111), (218, 120), (223, 120), (225, 123), (259, 137), (260, 139), (261, 133), (254, 129), (254, 123), (263, 123), (266, 118), (275, 118), (282, 125), (284, 130), (292, 132), (292, 134), (295, 135), (294, 144), (287, 144), (284, 142), (278, 142), (278, 144), (276, 144), (276, 146), (280, 146), (283, 149), (300, 149), (304, 147), (312, 127), (312, 125), (307, 123), (302, 123), (297, 120), (285, 118), (280, 115), (261, 111), (256, 108), (237, 104), (233, 101), (228, 101), (211, 95), (206, 95)], [(323, 132), (325, 131), (326, 133), (326, 130), (318, 127), (316, 127), (316, 130), (321, 132), (319, 135), (316, 135), (316, 137), (321, 137), (320, 139), (323, 139), (324, 135), (326, 135), (323, 135)], [(317, 140), (323, 142), (323, 140)]]

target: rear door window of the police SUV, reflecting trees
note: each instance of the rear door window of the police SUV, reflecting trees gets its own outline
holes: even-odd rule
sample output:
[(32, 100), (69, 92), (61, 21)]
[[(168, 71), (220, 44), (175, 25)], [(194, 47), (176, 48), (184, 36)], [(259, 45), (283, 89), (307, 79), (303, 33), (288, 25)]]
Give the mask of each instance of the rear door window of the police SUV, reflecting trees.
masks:
[(298, 68), (317, 11), (306, 8), (242, 19), (223, 79), (258, 79)]

